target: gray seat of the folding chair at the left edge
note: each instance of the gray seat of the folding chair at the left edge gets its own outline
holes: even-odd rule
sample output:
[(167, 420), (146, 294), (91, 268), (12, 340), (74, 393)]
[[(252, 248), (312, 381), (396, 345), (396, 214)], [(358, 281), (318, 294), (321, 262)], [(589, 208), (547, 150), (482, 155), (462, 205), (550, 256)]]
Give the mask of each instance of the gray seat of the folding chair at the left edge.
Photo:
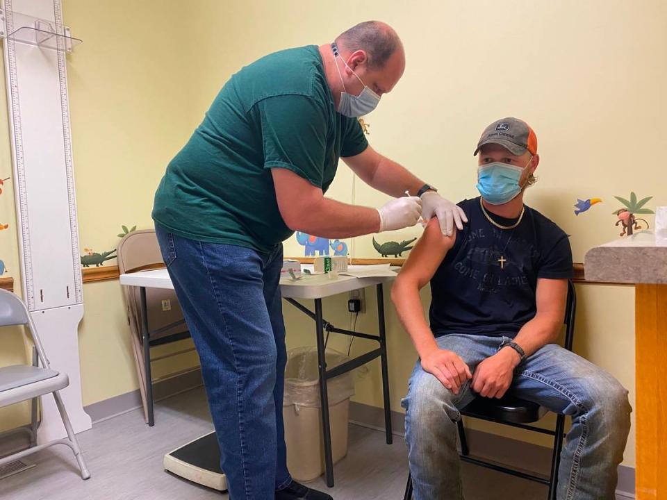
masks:
[(56, 370), (15, 365), (0, 368), (0, 406), (48, 394), (69, 385), (66, 374)]

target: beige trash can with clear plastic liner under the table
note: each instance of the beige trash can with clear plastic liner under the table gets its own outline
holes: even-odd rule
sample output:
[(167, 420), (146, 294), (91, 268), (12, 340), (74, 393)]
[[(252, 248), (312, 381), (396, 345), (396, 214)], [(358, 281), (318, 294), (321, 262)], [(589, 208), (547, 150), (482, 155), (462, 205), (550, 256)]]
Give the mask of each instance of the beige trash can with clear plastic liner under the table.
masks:
[[(326, 357), (328, 369), (349, 360), (345, 354), (329, 349)], [(348, 372), (327, 381), (334, 463), (347, 455), (349, 398), (354, 395), (353, 374)], [(285, 369), (283, 417), (287, 465), (296, 481), (312, 481), (324, 474), (324, 437), (318, 380), (317, 349), (302, 347), (290, 350)]]

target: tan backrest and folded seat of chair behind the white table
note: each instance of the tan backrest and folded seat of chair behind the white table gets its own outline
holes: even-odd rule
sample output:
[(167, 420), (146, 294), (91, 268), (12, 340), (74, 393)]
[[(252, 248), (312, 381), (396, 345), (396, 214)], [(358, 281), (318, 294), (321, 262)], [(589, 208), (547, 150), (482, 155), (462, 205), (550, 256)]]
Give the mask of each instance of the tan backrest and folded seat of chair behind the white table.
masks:
[[(118, 268), (121, 273), (135, 272), (151, 267), (164, 267), (160, 245), (154, 229), (142, 229), (126, 234), (118, 244)], [(123, 287), (123, 296), (131, 329), (140, 336), (141, 301), (137, 287)], [(167, 306), (167, 303), (169, 306)], [(183, 319), (183, 311), (174, 290), (161, 288), (146, 289), (148, 311), (148, 329), (156, 331)], [(184, 324), (165, 328), (160, 333), (151, 335), (151, 340), (164, 338), (187, 331)]]

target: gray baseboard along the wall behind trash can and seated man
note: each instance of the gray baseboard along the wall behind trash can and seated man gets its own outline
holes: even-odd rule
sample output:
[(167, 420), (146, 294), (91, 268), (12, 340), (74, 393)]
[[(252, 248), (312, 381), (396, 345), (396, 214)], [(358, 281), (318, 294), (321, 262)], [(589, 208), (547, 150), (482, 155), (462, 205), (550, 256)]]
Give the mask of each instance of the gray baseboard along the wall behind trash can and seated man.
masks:
[[(349, 421), (363, 427), (384, 431), (382, 408), (353, 401), (349, 405)], [(393, 434), (403, 436), (405, 415), (400, 412), (391, 412), (391, 426)], [(466, 437), (472, 453), (480, 458), (494, 460), (529, 472), (543, 473), (550, 467), (551, 449), (549, 448), (475, 429), (468, 429)], [(620, 465), (616, 498), (625, 500), (634, 499), (634, 497), (634, 468)]]

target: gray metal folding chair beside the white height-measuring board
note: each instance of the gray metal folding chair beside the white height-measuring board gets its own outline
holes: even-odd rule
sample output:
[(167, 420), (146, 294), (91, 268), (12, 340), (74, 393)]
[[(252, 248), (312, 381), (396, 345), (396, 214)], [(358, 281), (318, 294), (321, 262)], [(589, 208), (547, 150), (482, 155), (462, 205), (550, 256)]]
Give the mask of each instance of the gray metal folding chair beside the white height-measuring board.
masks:
[[(11, 292), (0, 290), (0, 326), (13, 325), (27, 326), (26, 329), (31, 335), (38, 353), (38, 359), (33, 360), (33, 365), (13, 365), (0, 368), (0, 408), (20, 403), (21, 401), (27, 401), (28, 399), (34, 399), (51, 392), (53, 393), (53, 398), (56, 399), (56, 406), (58, 406), (60, 417), (63, 418), (63, 424), (65, 424), (65, 430), (67, 431), (67, 439), (52, 440), (0, 458), (0, 467), (31, 453), (36, 453), (44, 448), (53, 446), (53, 444), (66, 444), (72, 449), (76, 461), (79, 462), (81, 477), (88, 479), (90, 472), (85, 467), (83, 455), (79, 449), (79, 444), (76, 442), (72, 424), (70, 424), (69, 417), (67, 416), (67, 410), (65, 410), (63, 399), (60, 398), (60, 393), (58, 392), (69, 385), (69, 377), (67, 377), (67, 374), (56, 372), (56, 370), (52, 370), (49, 367), (49, 360), (44, 353), (44, 348), (35, 329), (35, 324), (33, 324), (33, 319), (23, 301)], [(39, 366), (38, 360), (41, 361), (42, 367)], [(35, 429), (33, 429), (34, 431)], [(34, 435), (31, 441), (34, 442)]]

